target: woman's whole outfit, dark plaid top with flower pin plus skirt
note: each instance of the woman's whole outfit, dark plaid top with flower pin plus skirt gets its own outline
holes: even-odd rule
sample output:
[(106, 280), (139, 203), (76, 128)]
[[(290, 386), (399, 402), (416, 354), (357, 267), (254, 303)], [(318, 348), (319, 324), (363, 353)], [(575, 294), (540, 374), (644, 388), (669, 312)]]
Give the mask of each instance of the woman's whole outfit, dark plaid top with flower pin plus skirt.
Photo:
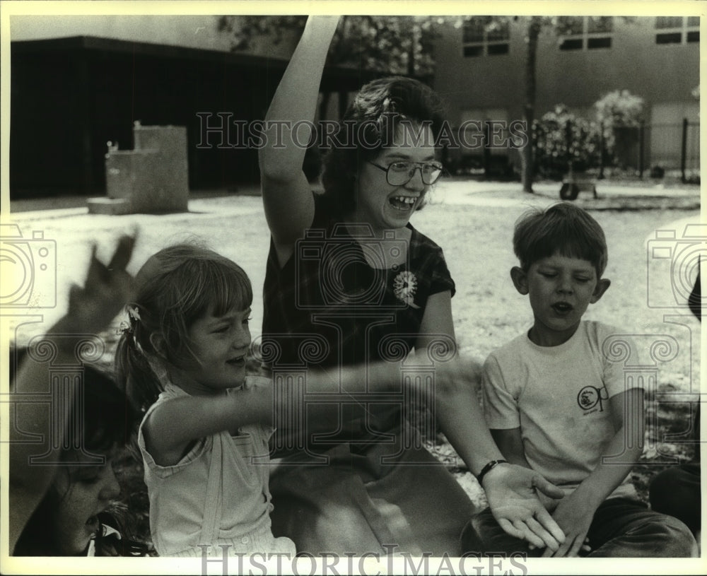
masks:
[[(317, 196), (315, 206), (312, 226), (282, 268), (270, 247), (264, 363), (274, 372), (317, 366), (335, 375), (340, 365), (402, 360), (414, 348), (428, 297), (455, 291), (442, 249), (410, 225), (409, 242), (375, 240), (365, 227), (354, 239)], [(407, 251), (407, 259), (393, 269), (369, 266), (366, 242), (393, 257)], [(472, 504), (421, 447), (400, 406), (390, 399), (332, 406), (339, 426), (328, 433), (308, 434), (299, 447), (276, 437), (276, 456), (285, 457), (271, 475), (274, 534), (315, 554), (386, 553), (388, 545), (413, 554), (458, 552)]]

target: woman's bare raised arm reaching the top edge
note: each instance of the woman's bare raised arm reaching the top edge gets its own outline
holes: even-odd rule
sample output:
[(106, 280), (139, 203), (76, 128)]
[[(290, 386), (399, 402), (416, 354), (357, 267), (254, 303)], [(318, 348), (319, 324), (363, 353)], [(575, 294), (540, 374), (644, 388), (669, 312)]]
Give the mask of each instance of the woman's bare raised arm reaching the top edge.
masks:
[(310, 16), (265, 117), (260, 177), (265, 216), (280, 264), (289, 259), (294, 242), (314, 217), (312, 191), (302, 165), (338, 20), (338, 16)]

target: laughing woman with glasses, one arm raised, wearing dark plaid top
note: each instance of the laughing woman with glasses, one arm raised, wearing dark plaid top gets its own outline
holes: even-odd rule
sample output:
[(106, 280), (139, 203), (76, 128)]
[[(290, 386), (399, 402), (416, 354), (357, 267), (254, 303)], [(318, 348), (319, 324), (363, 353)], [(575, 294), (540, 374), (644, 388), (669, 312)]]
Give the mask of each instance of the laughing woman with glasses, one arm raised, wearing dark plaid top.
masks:
[[(455, 284), (442, 249), (409, 220), (443, 172), (433, 146), (442, 103), (411, 78), (363, 86), (341, 119), (354, 146), (328, 151), (324, 194), (313, 194), (303, 173), (305, 148), (295, 144), (305, 135), (294, 131), (312, 126), (337, 20), (309, 18), (267, 112), (271, 145), (259, 150), (271, 233), (262, 348), (272, 353), (265, 363), (279, 372), (331, 373), (414, 351), (433, 366), (440, 348), (447, 357), (456, 353)], [(535, 495), (537, 486), (552, 489), (528, 469), (498, 462), (477, 397), (467, 393), (476, 376), (460, 375), (458, 402), (442, 406), (438, 399), (443, 431), (483, 476), (504, 525), (556, 548), (562, 533)], [(303, 553), (459, 556), (472, 502), (407, 423), (409, 401), (362, 394), (327, 407), (338, 429), (276, 437), (275, 456), (288, 465), (271, 474), (274, 534), (289, 536)]]

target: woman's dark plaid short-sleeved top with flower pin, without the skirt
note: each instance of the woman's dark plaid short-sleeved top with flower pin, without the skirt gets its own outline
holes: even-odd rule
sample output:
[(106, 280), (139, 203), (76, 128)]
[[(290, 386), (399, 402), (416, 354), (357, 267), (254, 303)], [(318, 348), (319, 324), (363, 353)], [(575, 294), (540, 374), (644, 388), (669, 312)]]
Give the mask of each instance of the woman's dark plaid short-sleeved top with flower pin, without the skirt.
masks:
[[(281, 351), (269, 363), (331, 367), (385, 360), (399, 353), (397, 347), (390, 351), (389, 335), (410, 351), (427, 298), (455, 292), (442, 249), (409, 224), (409, 247), (401, 240), (375, 240), (366, 227), (354, 239), (315, 199), (312, 226), (282, 269), (270, 247), (263, 334)], [(357, 240), (394, 254), (407, 250), (407, 261), (394, 269), (372, 268)], [(308, 338), (319, 345), (310, 354)]]

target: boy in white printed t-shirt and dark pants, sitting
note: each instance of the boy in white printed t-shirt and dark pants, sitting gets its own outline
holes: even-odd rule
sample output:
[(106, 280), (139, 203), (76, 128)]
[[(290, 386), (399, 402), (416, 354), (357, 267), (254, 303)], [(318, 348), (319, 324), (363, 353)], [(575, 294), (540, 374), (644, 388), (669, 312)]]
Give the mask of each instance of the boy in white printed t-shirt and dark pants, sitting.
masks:
[[(515, 288), (530, 297), (534, 324), (484, 365), (486, 423), (504, 457), (565, 490), (541, 496), (566, 540), (552, 553), (507, 536), (489, 510), (462, 536), (466, 551), (531, 556), (696, 555), (679, 520), (648, 510), (629, 481), (643, 449), (643, 389), (602, 347), (616, 330), (582, 321), (609, 288), (600, 225), (573, 204), (532, 211), (515, 225)], [(612, 457), (613, 462), (604, 460)]]

